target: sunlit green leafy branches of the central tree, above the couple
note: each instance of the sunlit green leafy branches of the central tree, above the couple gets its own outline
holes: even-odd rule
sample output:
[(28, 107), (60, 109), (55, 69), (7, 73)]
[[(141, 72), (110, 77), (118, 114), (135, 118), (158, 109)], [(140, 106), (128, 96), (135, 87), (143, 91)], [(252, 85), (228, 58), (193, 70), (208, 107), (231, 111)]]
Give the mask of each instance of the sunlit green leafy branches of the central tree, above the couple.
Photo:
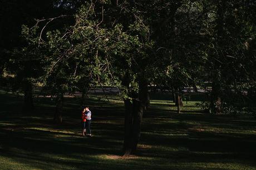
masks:
[[(104, 3), (100, 4), (103, 8)], [(86, 3), (75, 14), (73, 25), (48, 31), (45, 38), (42, 35), (45, 27), (37, 27), (38, 23), (31, 29), (23, 27), (27, 41), (32, 46), (38, 44), (38, 56), (45, 72), (40, 81), (46, 89), (53, 90), (51, 94), (56, 89), (63, 92), (81, 89), (81, 83), (102, 86), (107, 82), (122, 89), (125, 97), (127, 89), (122, 87), (121, 79), (126, 72), (131, 77), (131, 88), (137, 91), (138, 76), (141, 76), (138, 63), (147, 61), (146, 51), (152, 46), (150, 41), (142, 42), (139, 35), (148, 36), (148, 28), (139, 19), (127, 30), (121, 23), (108, 27), (108, 23), (99, 22), (98, 10), (96, 4)]]

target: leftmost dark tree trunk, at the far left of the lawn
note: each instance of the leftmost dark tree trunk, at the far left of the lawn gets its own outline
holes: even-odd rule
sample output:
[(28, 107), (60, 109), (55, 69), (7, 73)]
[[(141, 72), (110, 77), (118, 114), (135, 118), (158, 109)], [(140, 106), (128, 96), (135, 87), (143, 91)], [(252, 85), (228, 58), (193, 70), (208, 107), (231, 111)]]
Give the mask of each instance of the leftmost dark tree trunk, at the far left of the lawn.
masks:
[(25, 78), (23, 80), (23, 91), (24, 91), (24, 111), (32, 111), (34, 109), (33, 104), (33, 92), (32, 92), (32, 82), (31, 80)]

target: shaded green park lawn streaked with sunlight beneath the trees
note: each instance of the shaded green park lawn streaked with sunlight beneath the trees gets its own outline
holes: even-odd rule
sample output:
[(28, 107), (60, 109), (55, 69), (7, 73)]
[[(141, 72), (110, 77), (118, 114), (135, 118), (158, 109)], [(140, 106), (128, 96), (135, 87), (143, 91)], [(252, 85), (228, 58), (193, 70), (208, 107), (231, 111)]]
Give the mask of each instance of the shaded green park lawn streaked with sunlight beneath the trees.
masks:
[(79, 98), (65, 98), (63, 124), (52, 123), (51, 98), (0, 92), (0, 169), (256, 169), (256, 120), (210, 116), (184, 102), (152, 99), (144, 114), (137, 154), (121, 157), (124, 107), (116, 96), (89, 96), (93, 137), (81, 137)]

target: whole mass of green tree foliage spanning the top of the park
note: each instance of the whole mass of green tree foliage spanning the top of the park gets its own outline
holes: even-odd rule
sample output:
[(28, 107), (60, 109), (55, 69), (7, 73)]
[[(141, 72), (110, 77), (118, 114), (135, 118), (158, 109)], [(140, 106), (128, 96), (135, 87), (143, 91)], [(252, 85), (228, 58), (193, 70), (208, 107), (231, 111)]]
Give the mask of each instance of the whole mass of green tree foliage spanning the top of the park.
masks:
[[(244, 107), (253, 105), (249, 103), (255, 95), (254, 3), (54, 4), (56, 10), (76, 12), (37, 19), (34, 27), (23, 25), (27, 43), (13, 52), (8, 65), (14, 74), (26, 72), (27, 78), (42, 83), (46, 93), (84, 91), (108, 84), (118, 87), (122, 97), (131, 98), (129, 93), (138, 92), (141, 81), (169, 91), (191, 86), (215, 91), (211, 87), (216, 85), (218, 92), (211, 96), (221, 97), (230, 106), (238, 103), (233, 96), (245, 101)], [(78, 4), (83, 5), (78, 8)], [(37, 60), (30, 60), (33, 67), (24, 69), (27, 66), (21, 61), (31, 56)], [(36, 75), (30, 75), (32, 71)], [(124, 79), (129, 81), (126, 86)], [(250, 99), (245, 99), (245, 92)]]

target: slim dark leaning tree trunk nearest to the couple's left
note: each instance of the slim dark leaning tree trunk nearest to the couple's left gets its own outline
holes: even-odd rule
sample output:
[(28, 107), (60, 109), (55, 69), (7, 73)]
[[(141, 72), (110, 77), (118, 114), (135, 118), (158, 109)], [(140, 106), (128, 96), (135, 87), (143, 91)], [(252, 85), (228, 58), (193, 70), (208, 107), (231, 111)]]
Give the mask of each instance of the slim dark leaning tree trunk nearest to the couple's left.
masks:
[(59, 92), (56, 96), (56, 108), (53, 121), (57, 124), (62, 123), (63, 93)]

